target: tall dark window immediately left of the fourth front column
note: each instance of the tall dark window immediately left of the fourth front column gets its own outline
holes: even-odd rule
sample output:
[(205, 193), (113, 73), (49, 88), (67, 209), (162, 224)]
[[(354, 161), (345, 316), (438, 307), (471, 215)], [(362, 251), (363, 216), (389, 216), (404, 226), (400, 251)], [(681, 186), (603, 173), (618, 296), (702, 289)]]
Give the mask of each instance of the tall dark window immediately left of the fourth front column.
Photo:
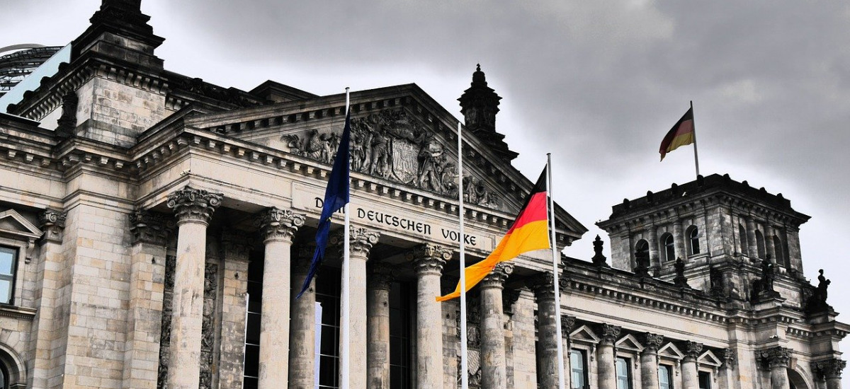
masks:
[(409, 389), (411, 385), (411, 290), (394, 282), (389, 290), (389, 387)]

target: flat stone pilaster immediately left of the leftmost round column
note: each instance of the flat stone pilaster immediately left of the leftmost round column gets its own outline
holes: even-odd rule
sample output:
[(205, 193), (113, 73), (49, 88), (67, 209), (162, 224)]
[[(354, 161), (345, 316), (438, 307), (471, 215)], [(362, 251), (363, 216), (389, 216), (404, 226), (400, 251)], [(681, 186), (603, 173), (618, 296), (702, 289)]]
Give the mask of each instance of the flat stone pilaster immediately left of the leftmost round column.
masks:
[(139, 210), (130, 214), (133, 248), (122, 375), (125, 388), (156, 387), (165, 291), (165, 245), (173, 228), (173, 220), (154, 212)]

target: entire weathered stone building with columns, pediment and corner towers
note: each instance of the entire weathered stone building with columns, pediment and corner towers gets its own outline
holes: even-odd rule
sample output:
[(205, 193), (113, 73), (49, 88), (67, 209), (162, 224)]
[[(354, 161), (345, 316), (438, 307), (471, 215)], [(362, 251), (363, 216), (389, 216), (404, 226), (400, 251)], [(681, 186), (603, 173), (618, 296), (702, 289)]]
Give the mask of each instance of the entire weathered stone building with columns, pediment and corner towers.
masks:
[[(460, 302), (434, 300), (456, 285), (457, 242), (486, 257), (532, 189), (480, 68), (460, 99), (460, 178), (456, 121), (427, 93), (351, 94), (350, 310), (341, 215), (296, 298), (344, 96), (168, 72), (148, 20), (139, 0), (104, 0), (71, 63), (0, 114), (7, 386), (454, 388), (462, 344), (473, 388), (841, 386), (850, 326), (830, 281), (802, 278), (808, 217), (728, 176), (614, 206), (611, 258), (598, 239), (558, 285), (547, 251), (500, 264), (468, 294), (462, 338)], [(555, 218), (558, 248), (587, 232)]]

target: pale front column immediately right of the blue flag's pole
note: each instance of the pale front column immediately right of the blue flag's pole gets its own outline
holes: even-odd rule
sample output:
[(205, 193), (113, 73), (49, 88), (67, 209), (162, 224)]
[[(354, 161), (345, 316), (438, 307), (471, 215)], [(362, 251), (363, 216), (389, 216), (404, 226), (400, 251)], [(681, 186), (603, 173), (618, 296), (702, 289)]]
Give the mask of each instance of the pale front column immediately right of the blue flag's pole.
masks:
[[(366, 377), (366, 261), (369, 251), (377, 243), (381, 234), (366, 228), (352, 227), (350, 230), (348, 253), (348, 303), (351, 307), (350, 332), (348, 340), (349, 381), (348, 385), (340, 380), (340, 387), (368, 387)], [(344, 276), (344, 275), (343, 275)], [(340, 318), (340, 324), (345, 318)], [(340, 329), (342, 331), (342, 329)], [(342, 370), (340, 370), (342, 372)], [(342, 375), (340, 375), (342, 377)]]

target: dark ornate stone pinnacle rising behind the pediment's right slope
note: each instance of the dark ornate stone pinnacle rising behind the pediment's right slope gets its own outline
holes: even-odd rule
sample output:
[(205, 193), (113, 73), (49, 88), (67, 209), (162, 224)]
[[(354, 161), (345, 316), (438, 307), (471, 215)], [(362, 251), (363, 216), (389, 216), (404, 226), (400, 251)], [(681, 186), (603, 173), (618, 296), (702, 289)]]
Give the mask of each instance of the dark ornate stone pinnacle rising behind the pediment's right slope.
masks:
[(457, 100), (461, 102), (461, 113), (467, 130), (483, 139), (502, 160), (511, 161), (517, 157), (517, 153), (507, 148), (503, 140), (505, 136), (496, 132), (496, 114), (499, 113), (501, 97), (487, 86), (481, 65), (477, 65), (473, 73), (472, 85)]

